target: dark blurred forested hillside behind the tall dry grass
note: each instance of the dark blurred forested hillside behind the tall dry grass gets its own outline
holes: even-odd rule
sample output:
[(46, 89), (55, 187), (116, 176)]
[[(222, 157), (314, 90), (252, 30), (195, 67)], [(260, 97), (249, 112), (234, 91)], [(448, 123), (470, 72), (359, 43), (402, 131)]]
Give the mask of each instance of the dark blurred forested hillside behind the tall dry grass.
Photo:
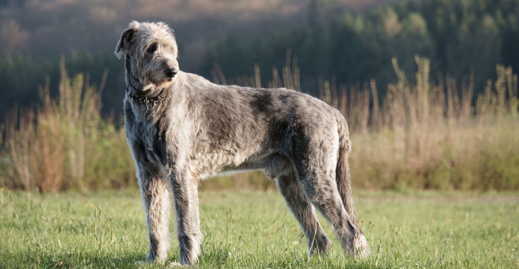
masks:
[[(227, 0), (229, 3), (230, 1)], [(181, 69), (207, 78), (211, 78), (215, 64), (228, 77), (241, 77), (251, 73), (255, 63), (262, 70), (271, 70), (272, 66), (281, 67), (287, 49), (291, 49), (292, 54), (298, 57), (303, 91), (312, 95), (318, 95), (320, 78), (332, 80), (334, 77), (338, 84), (348, 86), (362, 84), (371, 79), (375, 79), (378, 85), (394, 83), (391, 58), (398, 58), (400, 68), (411, 73), (415, 68), (415, 54), (431, 59), (431, 79), (434, 82), (439, 82), (439, 73), (442, 77), (449, 74), (458, 83), (463, 76), (472, 73), (475, 94), (481, 93), (486, 79), (496, 78), (496, 64), (519, 70), (517, 1), (403, 1), (390, 6), (387, 4), (393, 1), (377, 1), (374, 8), (365, 12), (353, 12), (343, 11), (347, 4), (339, 1), (310, 1), (305, 8), (302, 7), (304, 4), (297, 1), (277, 0), (277, 4), (270, 6), (268, 3), (253, 5), (256, 8), (258, 5), (263, 6), (260, 9), (267, 11), (252, 12), (254, 16), (250, 16), (255, 19), (251, 18), (252, 21), (247, 23), (243, 22), (243, 18), (249, 18), (249, 15), (243, 18), (236, 18), (235, 15), (247, 13), (243, 8), (251, 5), (215, 4), (206, 0), (199, 2), (182, 2), (175, 4), (178, 5), (177, 8), (170, 9), (161, 8), (173, 5), (163, 1), (150, 4), (92, 0), (48, 3), (38, 0), (31, 1), (31, 5), (12, 5), (6, 8), (5, 17), (8, 19), (5, 19), (0, 28), (12, 24), (11, 19), (17, 21), (20, 25), (14, 23), (8, 32), (19, 35), (24, 31), (28, 32), (30, 36), (25, 40), (25, 47), (28, 48), (25, 49), (32, 52), (23, 50), (16, 43), (11, 46), (14, 48), (12, 53), (0, 52), (0, 121), (13, 108), (14, 103), (26, 106), (37, 101), (37, 86), (46, 76), (50, 77), (51, 83), (59, 81), (60, 63), (56, 57), (59, 53), (66, 53), (66, 66), (71, 73), (89, 71), (92, 81), (99, 81), (103, 70), (108, 68), (110, 76), (107, 77), (106, 88), (109, 90), (103, 92), (103, 114), (107, 115), (112, 111), (116, 115), (122, 113), (120, 100), (124, 88), (120, 82), (124, 79), (124, 65), (112, 54), (117, 35), (130, 19), (171, 22), (174, 20), (171, 12), (179, 13), (182, 18), (195, 14), (195, 19), (171, 23), (171, 26), (179, 38)], [(358, 6), (371, 3), (354, 2)], [(278, 4), (280, 6), (276, 6)], [(41, 8), (42, 5), (45, 8)], [(293, 6), (286, 8), (285, 5)], [(118, 15), (121, 7), (124, 10), (133, 10), (130, 13), (137, 17)], [(268, 11), (269, 8), (276, 10)], [(301, 9), (301, 13), (297, 16), (279, 13), (280, 10), (293, 9)], [(52, 16), (39, 12), (50, 12)], [(304, 18), (306, 13), (308, 19)], [(25, 14), (36, 14), (37, 18), (25, 20)], [(274, 16), (272, 14), (282, 18), (271, 19), (270, 16)], [(180, 18), (179, 16), (174, 17)], [(199, 27), (203, 28), (202, 31), (193, 26), (205, 25), (207, 22), (203, 21), (207, 20), (211, 21), (211, 25), (219, 25), (216, 23), (220, 21), (218, 18), (233, 19), (228, 27)], [(213, 23), (212, 20), (216, 22)], [(41, 23), (44, 24), (40, 25)], [(77, 26), (78, 23), (80, 27)], [(269, 26), (273, 23), (278, 26)], [(235, 26), (243, 29), (231, 31)], [(289, 30), (290, 27), (294, 28)], [(66, 38), (56, 38), (62, 36)], [(8, 34), (3, 43), (16, 41), (15, 39)], [(35, 43), (39, 46), (33, 46)], [(262, 84), (266, 85), (267, 77), (262, 78)], [(50, 88), (56, 87), (51, 85)], [(386, 88), (381, 87), (379, 95), (384, 96), (385, 91)]]

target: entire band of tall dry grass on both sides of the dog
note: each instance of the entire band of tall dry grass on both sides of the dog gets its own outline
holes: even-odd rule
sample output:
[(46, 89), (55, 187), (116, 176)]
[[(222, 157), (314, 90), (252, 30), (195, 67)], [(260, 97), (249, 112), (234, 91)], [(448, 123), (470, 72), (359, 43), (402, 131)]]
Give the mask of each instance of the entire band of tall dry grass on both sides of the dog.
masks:
[[(63, 62), (63, 61), (62, 61)], [(353, 143), (353, 184), (372, 189), (421, 188), (463, 190), (519, 189), (519, 117), (517, 75), (497, 66), (497, 80), (474, 96), (473, 78), (432, 83), (429, 60), (416, 57), (412, 78), (392, 61), (397, 83), (378, 94), (375, 81), (337, 85), (321, 80), (320, 98), (346, 117)], [(19, 109), (6, 118), (0, 153), (0, 186), (38, 189), (99, 189), (135, 185), (133, 161), (124, 130), (100, 114), (99, 91), (88, 76), (69, 78), (62, 64), (59, 95), (51, 99), (48, 83), (42, 106)], [(215, 82), (261, 87), (261, 70), (251, 77), (225, 78), (215, 68)], [(102, 88), (101, 83), (101, 87)], [(286, 57), (272, 70), (267, 87), (301, 91), (297, 59)], [(202, 189), (269, 189), (259, 173), (217, 177)]]

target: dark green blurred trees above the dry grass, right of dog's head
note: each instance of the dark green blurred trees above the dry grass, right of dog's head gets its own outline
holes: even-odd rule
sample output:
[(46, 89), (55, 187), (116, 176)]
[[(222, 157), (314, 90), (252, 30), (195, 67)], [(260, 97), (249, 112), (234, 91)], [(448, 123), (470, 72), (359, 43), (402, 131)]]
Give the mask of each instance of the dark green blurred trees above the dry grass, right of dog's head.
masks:
[(406, 2), (363, 14), (347, 12), (327, 22), (312, 17), (322, 16), (314, 10), (319, 5), (330, 3), (310, 3), (308, 28), (221, 39), (208, 49), (201, 71), (209, 76), (217, 63), (228, 76), (241, 76), (252, 72), (254, 62), (263, 69), (280, 66), (287, 48), (299, 57), (306, 91), (317, 89), (319, 77), (332, 76), (343, 84), (376, 79), (385, 85), (395, 79), (391, 57), (412, 72), (415, 54), (431, 58), (434, 78), (442, 74), (460, 79), (473, 73), (476, 89), (483, 88), (483, 78), (495, 77), (498, 63), (519, 68), (519, 1)]

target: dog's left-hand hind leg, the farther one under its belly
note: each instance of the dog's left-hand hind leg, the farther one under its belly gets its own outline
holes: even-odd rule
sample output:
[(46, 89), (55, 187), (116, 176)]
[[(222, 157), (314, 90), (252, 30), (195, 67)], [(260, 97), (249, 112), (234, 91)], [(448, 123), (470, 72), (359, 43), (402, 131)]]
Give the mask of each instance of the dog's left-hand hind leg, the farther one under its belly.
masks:
[(319, 256), (323, 255), (330, 248), (331, 242), (319, 224), (312, 205), (299, 187), (296, 175), (294, 173), (281, 175), (276, 178), (276, 185), (306, 236), (309, 248), (308, 259), (316, 252)]

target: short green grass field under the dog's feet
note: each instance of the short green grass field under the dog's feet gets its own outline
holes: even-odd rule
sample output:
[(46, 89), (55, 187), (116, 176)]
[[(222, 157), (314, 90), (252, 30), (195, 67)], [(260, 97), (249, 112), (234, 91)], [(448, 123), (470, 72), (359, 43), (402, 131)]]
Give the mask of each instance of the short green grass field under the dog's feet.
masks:
[[(278, 193), (201, 192), (197, 267), (519, 267), (517, 192), (355, 194), (371, 257), (344, 258), (321, 218), (333, 247), (307, 262), (305, 239)], [(136, 190), (0, 191), (0, 268), (137, 267), (146, 236)], [(169, 261), (177, 258), (174, 239)]]

